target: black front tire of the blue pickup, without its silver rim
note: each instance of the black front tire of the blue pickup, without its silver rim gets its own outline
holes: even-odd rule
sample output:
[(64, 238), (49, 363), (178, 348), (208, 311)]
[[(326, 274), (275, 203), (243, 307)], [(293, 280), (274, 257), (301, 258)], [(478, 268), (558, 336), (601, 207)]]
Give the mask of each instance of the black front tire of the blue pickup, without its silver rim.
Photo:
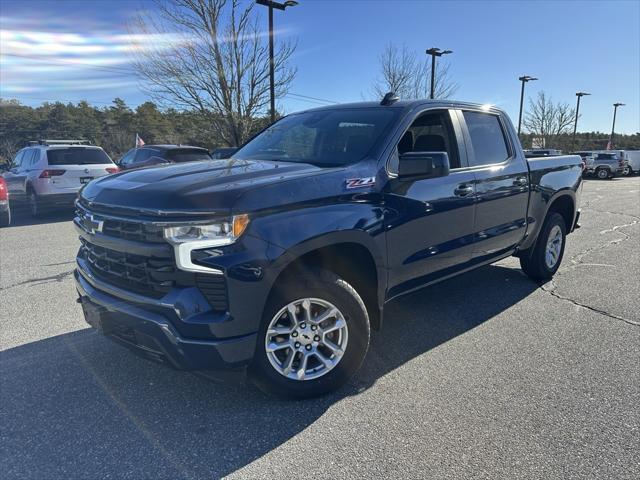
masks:
[[(275, 369), (265, 348), (267, 328), (286, 305), (302, 298), (318, 298), (334, 305), (343, 315), (348, 342), (339, 362), (323, 376), (292, 380)], [(370, 325), (367, 309), (358, 292), (333, 272), (307, 270), (282, 280), (272, 292), (262, 317), (249, 378), (264, 392), (283, 398), (311, 398), (332, 392), (358, 371), (369, 348)]]

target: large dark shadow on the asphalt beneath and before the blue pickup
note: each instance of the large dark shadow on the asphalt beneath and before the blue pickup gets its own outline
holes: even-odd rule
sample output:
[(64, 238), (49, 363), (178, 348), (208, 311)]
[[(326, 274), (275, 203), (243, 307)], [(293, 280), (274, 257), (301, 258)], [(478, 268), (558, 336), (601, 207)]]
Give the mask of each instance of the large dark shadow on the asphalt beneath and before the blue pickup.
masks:
[(0, 469), (4, 478), (230, 474), (536, 288), (518, 270), (490, 266), (395, 301), (350, 385), (304, 402), (157, 366), (90, 330), (4, 351)]

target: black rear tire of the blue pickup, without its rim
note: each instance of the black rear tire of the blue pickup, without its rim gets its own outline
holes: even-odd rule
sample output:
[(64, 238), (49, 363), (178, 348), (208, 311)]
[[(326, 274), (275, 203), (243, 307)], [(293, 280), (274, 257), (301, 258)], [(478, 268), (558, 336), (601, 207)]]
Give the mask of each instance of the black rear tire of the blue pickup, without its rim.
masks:
[[(549, 236), (556, 226), (560, 228), (560, 232), (562, 234), (562, 246), (555, 264), (550, 268), (545, 261), (546, 247)], [(536, 243), (528, 250), (524, 250), (520, 253), (520, 268), (522, 268), (524, 273), (534, 280), (549, 280), (555, 275), (558, 268), (560, 268), (562, 257), (564, 255), (566, 239), (567, 226), (564, 222), (564, 218), (559, 213), (549, 213), (542, 225), (542, 230), (540, 230), (540, 233), (538, 234)]]

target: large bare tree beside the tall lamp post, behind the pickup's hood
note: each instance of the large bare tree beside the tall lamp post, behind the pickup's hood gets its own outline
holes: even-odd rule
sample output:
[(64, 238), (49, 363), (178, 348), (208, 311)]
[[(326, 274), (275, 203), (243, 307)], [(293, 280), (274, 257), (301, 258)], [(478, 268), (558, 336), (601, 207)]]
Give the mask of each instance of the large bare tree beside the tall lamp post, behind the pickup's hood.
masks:
[[(140, 15), (136, 33), (176, 34), (171, 45), (136, 52), (143, 88), (162, 106), (204, 114), (231, 146), (255, 130), (269, 103), (269, 49), (253, 2), (240, 0), (155, 0), (158, 16)], [(288, 65), (295, 44), (275, 51), (276, 95), (284, 95), (296, 70)]]

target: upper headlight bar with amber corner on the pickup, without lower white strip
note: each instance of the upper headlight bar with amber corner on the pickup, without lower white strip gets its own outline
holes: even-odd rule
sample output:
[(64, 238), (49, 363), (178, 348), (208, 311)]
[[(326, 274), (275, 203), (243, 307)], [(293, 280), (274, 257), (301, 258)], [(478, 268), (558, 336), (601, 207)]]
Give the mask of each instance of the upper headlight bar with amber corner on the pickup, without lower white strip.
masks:
[(221, 221), (210, 225), (185, 225), (167, 227), (164, 238), (170, 243), (205, 242), (214, 245), (226, 245), (242, 235), (249, 224), (248, 215), (236, 215), (231, 221)]

